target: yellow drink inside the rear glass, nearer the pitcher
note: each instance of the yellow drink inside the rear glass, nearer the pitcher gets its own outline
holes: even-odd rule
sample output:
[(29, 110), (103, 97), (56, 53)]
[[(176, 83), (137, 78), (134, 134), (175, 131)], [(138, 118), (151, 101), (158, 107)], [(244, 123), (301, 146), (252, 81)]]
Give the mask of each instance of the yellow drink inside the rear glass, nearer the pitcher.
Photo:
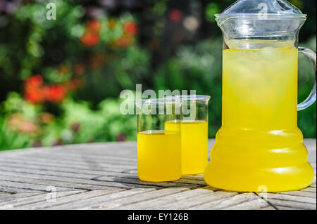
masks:
[[(179, 123), (167, 121), (167, 131), (179, 129)], [(208, 122), (182, 121), (180, 123), (182, 143), (182, 174), (204, 173), (208, 163)]]

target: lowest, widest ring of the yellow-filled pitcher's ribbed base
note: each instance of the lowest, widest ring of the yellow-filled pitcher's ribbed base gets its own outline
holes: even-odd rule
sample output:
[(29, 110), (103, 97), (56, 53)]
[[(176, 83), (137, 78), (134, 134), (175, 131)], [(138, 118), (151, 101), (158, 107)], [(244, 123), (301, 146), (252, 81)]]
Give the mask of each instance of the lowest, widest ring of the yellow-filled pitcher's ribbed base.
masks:
[(204, 179), (212, 187), (237, 192), (282, 192), (299, 190), (313, 183), (309, 162), (288, 167), (223, 166), (210, 162)]

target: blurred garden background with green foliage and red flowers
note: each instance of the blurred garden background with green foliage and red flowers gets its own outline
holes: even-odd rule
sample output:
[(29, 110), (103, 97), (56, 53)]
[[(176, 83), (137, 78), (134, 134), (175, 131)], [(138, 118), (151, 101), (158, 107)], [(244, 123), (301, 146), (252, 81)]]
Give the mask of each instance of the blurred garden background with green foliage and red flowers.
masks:
[[(46, 4), (56, 20), (46, 20)], [(135, 84), (211, 95), (209, 137), (221, 124), (221, 32), (214, 14), (232, 0), (0, 0), (0, 150), (136, 140), (136, 117), (119, 112)], [(300, 45), (316, 52), (316, 1)], [(313, 86), (299, 57), (299, 101)], [(298, 113), (316, 138), (316, 103)], [(287, 116), (287, 114), (285, 114)]]

